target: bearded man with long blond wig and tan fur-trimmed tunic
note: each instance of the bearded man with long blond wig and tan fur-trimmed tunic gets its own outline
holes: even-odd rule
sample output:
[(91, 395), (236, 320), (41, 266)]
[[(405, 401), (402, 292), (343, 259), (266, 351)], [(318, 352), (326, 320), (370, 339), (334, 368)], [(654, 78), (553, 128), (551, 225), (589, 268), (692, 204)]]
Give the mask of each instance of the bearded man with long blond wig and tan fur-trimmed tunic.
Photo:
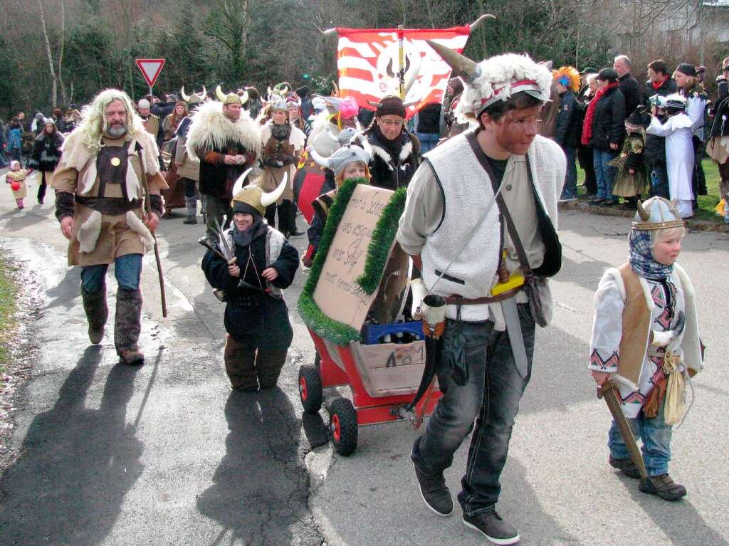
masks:
[[(163, 214), (159, 150), (144, 130), (128, 95), (107, 89), (96, 95), (81, 124), (66, 138), (53, 173), (55, 216), (69, 239), (69, 265), (81, 266), (81, 296), (89, 340), (101, 343), (109, 314), (106, 270), (114, 263), (117, 310), (114, 346), (120, 362), (139, 364), (139, 289), (142, 256), (154, 246)], [(147, 178), (149, 195), (144, 192)], [(144, 214), (148, 199), (152, 208)]]

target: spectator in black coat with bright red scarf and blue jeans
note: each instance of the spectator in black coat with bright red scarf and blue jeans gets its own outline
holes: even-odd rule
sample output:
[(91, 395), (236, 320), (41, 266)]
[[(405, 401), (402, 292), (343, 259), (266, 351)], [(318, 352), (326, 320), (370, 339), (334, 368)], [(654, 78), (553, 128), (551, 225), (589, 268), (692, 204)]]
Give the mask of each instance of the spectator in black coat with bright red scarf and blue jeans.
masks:
[(617, 167), (609, 165), (620, 153), (625, 139), (625, 97), (620, 91), (617, 72), (602, 69), (596, 77), (599, 85), (597, 95), (590, 102), (582, 128), (582, 144), (593, 149), (593, 165), (597, 181), (597, 197), (590, 205), (615, 205), (612, 195)]

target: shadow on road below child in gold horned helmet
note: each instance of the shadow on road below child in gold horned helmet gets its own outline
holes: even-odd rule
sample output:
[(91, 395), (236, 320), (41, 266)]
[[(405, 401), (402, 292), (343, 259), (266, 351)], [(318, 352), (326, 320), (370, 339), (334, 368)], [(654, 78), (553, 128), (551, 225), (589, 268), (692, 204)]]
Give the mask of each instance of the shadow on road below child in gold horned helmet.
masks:
[(198, 510), (223, 528), (211, 546), (320, 544), (307, 508), (300, 422), (284, 391), (233, 391), (225, 418), (225, 457), (198, 496)]

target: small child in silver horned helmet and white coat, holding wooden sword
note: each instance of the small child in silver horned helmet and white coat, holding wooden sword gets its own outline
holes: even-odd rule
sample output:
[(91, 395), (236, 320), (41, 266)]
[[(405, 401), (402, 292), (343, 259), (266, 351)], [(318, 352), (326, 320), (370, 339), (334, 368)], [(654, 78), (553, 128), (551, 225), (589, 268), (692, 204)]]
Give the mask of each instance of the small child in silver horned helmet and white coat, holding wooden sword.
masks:
[[(602, 386), (612, 379), (636, 439), (647, 477), (639, 489), (667, 501), (686, 494), (668, 475), (671, 426), (683, 415), (683, 389), (703, 368), (694, 292), (677, 264), (684, 222), (674, 202), (638, 202), (628, 235), (628, 262), (607, 270), (595, 293), (590, 369)], [(640, 478), (615, 421), (608, 434), (609, 464)]]

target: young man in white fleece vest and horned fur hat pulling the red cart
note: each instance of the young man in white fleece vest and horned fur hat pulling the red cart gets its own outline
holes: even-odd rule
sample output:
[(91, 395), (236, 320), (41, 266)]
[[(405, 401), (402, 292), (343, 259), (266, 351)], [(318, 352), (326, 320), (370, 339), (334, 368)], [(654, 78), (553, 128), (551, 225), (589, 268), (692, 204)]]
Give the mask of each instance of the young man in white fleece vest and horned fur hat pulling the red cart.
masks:
[(557, 200), (564, 153), (539, 136), (552, 74), (526, 55), (475, 63), (428, 42), (464, 80), (456, 109), (474, 130), (425, 157), (408, 185), (397, 241), (443, 297), (437, 403), (411, 459), (421, 496), (453, 513), (443, 471), (473, 431), (458, 499), (464, 524), (491, 542), (518, 542), (496, 512), (509, 440), (531, 376), (534, 326), (551, 318), (547, 277), (561, 268)]

